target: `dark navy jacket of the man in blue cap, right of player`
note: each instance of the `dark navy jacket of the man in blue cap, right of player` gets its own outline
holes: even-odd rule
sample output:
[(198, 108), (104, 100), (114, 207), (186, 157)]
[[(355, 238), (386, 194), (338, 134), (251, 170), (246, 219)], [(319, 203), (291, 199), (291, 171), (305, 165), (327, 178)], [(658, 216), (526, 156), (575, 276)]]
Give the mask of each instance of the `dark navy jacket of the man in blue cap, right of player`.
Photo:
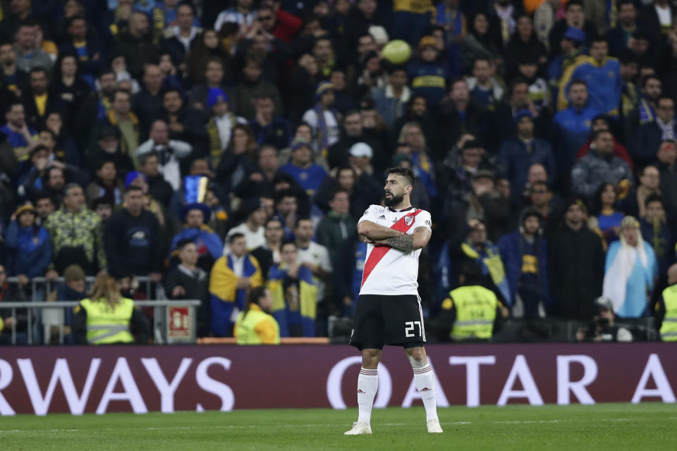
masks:
[(499, 150), (499, 159), (504, 166), (506, 175), (514, 194), (522, 192), (527, 183), (529, 166), (533, 163), (541, 163), (548, 172), (549, 180), (555, 178), (555, 159), (552, 155), (550, 143), (540, 138), (530, 141), (531, 149), (527, 148), (524, 141), (518, 138), (505, 140)]

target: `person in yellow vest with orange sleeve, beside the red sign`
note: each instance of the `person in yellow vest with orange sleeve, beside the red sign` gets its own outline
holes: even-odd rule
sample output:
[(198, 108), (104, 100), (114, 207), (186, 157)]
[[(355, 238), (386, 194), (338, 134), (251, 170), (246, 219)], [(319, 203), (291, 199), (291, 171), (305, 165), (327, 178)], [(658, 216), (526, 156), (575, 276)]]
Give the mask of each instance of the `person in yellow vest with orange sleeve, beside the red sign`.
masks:
[(233, 328), (238, 345), (279, 345), (280, 326), (268, 312), (273, 295), (265, 287), (252, 288), (245, 309), (240, 311)]

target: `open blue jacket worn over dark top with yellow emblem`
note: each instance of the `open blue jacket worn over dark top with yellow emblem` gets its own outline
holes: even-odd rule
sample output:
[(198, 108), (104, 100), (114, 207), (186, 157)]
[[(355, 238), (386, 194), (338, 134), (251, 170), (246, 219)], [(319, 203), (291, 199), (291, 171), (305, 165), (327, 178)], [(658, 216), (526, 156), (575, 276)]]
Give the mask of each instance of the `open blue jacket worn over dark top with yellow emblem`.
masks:
[[(522, 235), (519, 230), (508, 235), (503, 235), (498, 242), (499, 252), (506, 268), (506, 279), (508, 280), (508, 287), (510, 288), (511, 299), (515, 299), (518, 283), (520, 281), (520, 274), (523, 268), (523, 247)], [(546, 242), (543, 238), (537, 237), (536, 247), (538, 254), (538, 280), (539, 288), (541, 290), (542, 301), (544, 306), (550, 307), (550, 290), (548, 285), (548, 267), (546, 256)]]

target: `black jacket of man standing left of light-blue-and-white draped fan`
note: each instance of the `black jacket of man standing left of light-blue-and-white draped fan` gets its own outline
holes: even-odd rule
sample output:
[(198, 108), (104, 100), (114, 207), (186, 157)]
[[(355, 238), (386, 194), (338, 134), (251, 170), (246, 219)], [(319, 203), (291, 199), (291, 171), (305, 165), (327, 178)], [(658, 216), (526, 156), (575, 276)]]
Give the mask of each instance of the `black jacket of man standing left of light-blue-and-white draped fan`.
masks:
[(575, 232), (563, 225), (549, 238), (547, 255), (553, 316), (592, 318), (604, 280), (602, 241), (585, 226)]

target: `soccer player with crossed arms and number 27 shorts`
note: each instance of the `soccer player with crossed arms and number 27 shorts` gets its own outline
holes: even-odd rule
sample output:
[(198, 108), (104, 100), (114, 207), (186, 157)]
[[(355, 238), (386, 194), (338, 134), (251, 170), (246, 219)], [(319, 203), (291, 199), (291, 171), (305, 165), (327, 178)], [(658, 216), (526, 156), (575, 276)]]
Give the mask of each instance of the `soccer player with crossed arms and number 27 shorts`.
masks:
[(410, 204), (414, 189), (410, 169), (390, 168), (386, 173), (386, 206), (371, 205), (358, 221), (358, 233), (367, 243), (367, 259), (350, 345), (362, 351), (360, 416), (346, 435), (372, 433), (370, 419), (383, 345), (404, 347), (425, 406), (428, 432), (439, 433), (442, 428), (434, 376), (423, 347), (425, 328), (417, 283), (418, 257), (430, 240), (430, 214)]

